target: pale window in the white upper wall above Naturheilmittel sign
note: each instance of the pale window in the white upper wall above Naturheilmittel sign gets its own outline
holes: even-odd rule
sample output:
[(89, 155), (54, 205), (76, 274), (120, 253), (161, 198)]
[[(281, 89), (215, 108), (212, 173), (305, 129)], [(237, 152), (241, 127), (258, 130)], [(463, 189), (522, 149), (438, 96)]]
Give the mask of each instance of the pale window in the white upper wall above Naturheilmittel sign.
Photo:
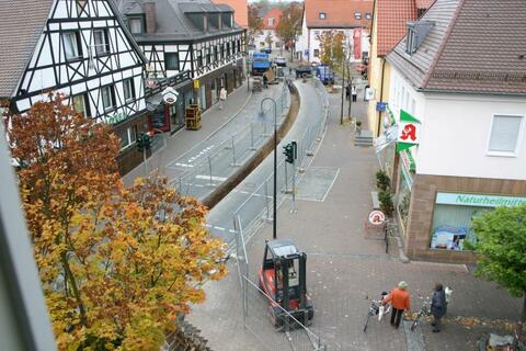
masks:
[(488, 154), (516, 156), (523, 116), (494, 115), (491, 124)]

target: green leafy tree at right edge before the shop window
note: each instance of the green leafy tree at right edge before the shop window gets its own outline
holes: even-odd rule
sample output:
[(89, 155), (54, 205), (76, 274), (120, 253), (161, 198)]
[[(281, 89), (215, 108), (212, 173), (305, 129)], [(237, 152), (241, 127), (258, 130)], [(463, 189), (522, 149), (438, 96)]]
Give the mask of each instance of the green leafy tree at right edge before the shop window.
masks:
[(526, 321), (526, 204), (498, 207), (473, 219), (480, 254), (476, 276), (495, 281), (514, 297), (523, 297), (521, 321)]

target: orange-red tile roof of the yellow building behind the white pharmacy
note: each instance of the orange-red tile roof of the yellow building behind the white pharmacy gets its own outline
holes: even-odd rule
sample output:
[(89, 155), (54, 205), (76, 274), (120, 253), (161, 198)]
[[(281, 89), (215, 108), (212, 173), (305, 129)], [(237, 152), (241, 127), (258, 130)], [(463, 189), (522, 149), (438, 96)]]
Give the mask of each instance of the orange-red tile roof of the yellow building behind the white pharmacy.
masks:
[(416, 20), (414, 0), (377, 0), (377, 55), (385, 56), (405, 35), (405, 23)]

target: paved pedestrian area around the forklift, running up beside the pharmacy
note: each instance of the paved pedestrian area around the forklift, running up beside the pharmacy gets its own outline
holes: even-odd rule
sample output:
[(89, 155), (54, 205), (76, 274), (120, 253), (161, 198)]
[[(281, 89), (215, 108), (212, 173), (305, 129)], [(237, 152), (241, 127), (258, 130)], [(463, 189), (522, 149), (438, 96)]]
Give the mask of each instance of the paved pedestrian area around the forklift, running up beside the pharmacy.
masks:
[[(359, 98), (353, 105), (353, 116), (365, 121), (366, 106)], [(332, 174), (332, 182), (320, 179), (332, 186), (327, 189), (323, 201), (298, 200), (295, 213), (286, 201), (277, 215), (277, 236), (293, 238), (308, 254), (307, 286), (316, 308), (312, 332), (322, 339), (327, 350), (474, 350), (482, 332), (502, 328), (499, 320), (518, 318), (522, 301), (511, 298), (495, 284), (473, 278), (468, 267), (402, 263), (398, 248), (391, 246), (391, 252), (386, 254), (382, 241), (365, 238), (364, 220), (371, 210), (370, 191), (375, 186), (377, 159), (373, 148), (354, 146), (353, 124), (340, 124), (340, 95), (331, 94), (330, 99), (328, 129), (305, 179), (309, 173)], [(322, 169), (334, 171), (317, 172)], [(302, 199), (309, 199), (309, 189), (302, 185), (301, 179), (298, 188)], [(272, 225), (267, 224), (249, 242), (250, 278), (254, 281), (264, 240), (270, 238)], [(216, 351), (290, 349), (285, 333), (270, 328), (263, 297), (253, 288), (248, 292), (249, 315), (243, 321), (235, 262), (229, 263), (229, 270), (227, 279), (207, 284), (207, 301), (195, 306), (188, 320), (203, 330)], [(424, 324), (424, 344), (419, 349), (408, 344), (403, 328), (392, 329), (385, 320), (381, 324), (371, 320), (367, 332), (362, 330), (367, 298), (377, 298), (381, 291), (390, 290), (400, 280), (409, 283), (413, 310), (420, 307), (416, 295), (428, 295), (435, 282), (455, 291), (444, 330), (435, 335), (430, 325)], [(410, 335), (409, 339), (414, 336)], [(312, 350), (305, 347), (297, 331), (289, 337), (293, 344), (302, 346), (297, 350)]]

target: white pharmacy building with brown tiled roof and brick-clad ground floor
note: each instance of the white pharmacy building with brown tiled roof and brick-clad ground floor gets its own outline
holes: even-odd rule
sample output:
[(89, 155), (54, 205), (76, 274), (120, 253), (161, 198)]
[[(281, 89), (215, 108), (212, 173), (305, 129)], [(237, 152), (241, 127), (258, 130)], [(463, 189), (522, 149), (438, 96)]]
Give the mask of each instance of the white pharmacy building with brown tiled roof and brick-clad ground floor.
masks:
[(526, 203), (525, 18), (523, 0), (436, 0), (386, 56), (381, 138), (396, 123), (405, 140), (392, 184), (412, 259), (471, 262), (472, 219)]

